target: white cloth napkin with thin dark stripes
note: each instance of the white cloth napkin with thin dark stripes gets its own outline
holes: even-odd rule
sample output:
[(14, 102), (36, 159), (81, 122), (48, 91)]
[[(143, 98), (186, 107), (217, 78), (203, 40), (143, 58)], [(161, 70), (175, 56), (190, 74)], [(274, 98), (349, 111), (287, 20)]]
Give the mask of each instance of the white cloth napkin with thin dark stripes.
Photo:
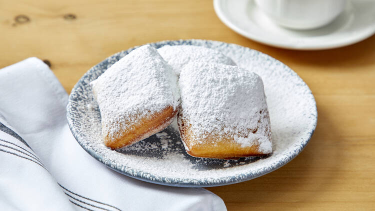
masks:
[(204, 188), (110, 170), (74, 139), (66, 104), (67, 93), (41, 60), (0, 69), (1, 210), (226, 210)]

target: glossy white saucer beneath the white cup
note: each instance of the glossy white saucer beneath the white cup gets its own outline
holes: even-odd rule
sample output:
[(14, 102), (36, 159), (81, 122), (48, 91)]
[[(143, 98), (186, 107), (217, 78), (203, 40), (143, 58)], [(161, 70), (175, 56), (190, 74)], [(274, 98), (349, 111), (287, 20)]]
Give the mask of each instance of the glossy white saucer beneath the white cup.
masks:
[(352, 0), (331, 23), (312, 30), (276, 25), (254, 0), (213, 0), (217, 16), (229, 28), (255, 41), (287, 49), (329, 49), (361, 41), (375, 33), (375, 1)]

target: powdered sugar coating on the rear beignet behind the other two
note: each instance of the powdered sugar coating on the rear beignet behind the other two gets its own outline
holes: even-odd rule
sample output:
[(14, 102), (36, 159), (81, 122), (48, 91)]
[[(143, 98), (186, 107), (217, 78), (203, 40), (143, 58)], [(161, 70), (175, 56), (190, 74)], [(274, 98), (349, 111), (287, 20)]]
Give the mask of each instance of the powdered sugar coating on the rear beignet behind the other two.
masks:
[(234, 61), (221, 52), (194, 45), (164, 45), (157, 49), (177, 74), (189, 62), (220, 63), (235, 65)]

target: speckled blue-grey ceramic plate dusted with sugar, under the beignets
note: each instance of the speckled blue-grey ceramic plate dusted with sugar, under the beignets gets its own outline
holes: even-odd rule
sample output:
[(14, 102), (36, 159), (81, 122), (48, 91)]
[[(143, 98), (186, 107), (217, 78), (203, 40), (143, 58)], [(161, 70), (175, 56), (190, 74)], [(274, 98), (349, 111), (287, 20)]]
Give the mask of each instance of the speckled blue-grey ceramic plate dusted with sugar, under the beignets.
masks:
[(303, 80), (280, 61), (259, 51), (209, 40), (150, 43), (201, 45), (221, 51), (237, 65), (252, 69), (264, 82), (271, 120), (272, 148), (266, 157), (239, 160), (197, 158), (183, 148), (175, 124), (128, 147), (111, 150), (100, 136), (100, 111), (89, 82), (134, 48), (115, 53), (89, 69), (69, 96), (67, 119), (78, 143), (109, 168), (152, 183), (182, 186), (217, 186), (249, 180), (269, 173), (293, 159), (307, 144), (317, 120), (314, 97)]

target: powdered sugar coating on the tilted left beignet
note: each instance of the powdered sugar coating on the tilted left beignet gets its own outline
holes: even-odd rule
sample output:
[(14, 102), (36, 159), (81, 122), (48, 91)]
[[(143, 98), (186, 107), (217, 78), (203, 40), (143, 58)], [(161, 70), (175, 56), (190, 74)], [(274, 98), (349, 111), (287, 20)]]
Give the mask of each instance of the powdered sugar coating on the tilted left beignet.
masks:
[(103, 136), (115, 138), (130, 123), (166, 106), (177, 109), (176, 81), (171, 66), (149, 45), (110, 66), (90, 83), (100, 107)]

